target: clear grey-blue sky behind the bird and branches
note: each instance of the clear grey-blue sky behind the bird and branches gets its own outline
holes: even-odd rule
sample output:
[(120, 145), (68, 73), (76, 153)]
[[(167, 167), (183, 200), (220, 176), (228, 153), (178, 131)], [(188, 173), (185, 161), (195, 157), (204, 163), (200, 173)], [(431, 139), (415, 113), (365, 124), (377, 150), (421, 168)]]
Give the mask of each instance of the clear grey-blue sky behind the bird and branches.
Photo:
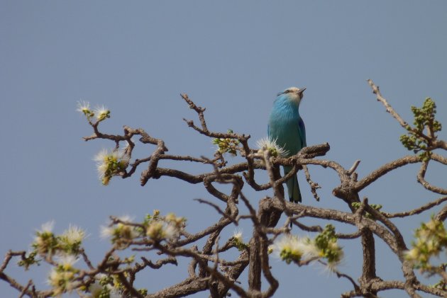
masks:
[[(447, 127), (446, 53), (446, 1), (0, 0), (0, 254), (28, 248), (34, 230), (50, 219), (57, 232), (69, 224), (87, 229), (87, 252), (95, 262), (108, 248), (99, 226), (110, 214), (141, 219), (153, 209), (175, 212), (189, 218), (192, 232), (216, 219), (214, 210), (193, 201), (210, 198), (200, 185), (162, 178), (142, 188), (138, 173), (102, 186), (92, 158), (113, 144), (82, 141), (91, 130), (75, 112), (79, 99), (111, 109), (104, 132), (143, 127), (165, 139), (172, 154), (212, 156), (210, 140), (182, 121), (195, 115), (179, 93), (207, 108), (211, 130), (250, 134), (254, 146), (265, 137), (275, 94), (307, 86), (301, 105), (307, 144), (329, 142), (326, 157), (346, 167), (360, 159), (361, 177), (407, 154), (399, 143), (401, 127), (375, 101), (366, 80), (373, 79), (407, 120), (410, 105), (431, 96)], [(446, 131), (441, 136), (447, 139)], [(141, 146), (135, 157), (152, 149)], [(429, 180), (445, 186), (445, 170), (431, 169)], [(396, 171), (361, 195), (387, 212), (422, 205), (436, 196), (416, 184), (416, 171)], [(311, 173), (324, 188), (321, 202), (311, 197), (301, 175), (304, 203), (347, 210), (331, 196), (336, 176), (319, 168)], [(245, 193), (254, 204), (270, 194)], [(396, 223), (409, 241), (412, 229), (428, 218), (425, 213)], [(248, 241), (249, 223), (244, 232)], [(224, 235), (232, 233), (233, 227)], [(361, 248), (353, 244), (342, 242), (346, 262), (340, 270), (356, 279)], [(385, 251), (377, 240), (377, 274), (402, 280), (397, 258)], [(319, 266), (297, 268), (277, 260), (272, 266), (281, 283), (277, 297), (297, 291), (302, 297), (338, 297), (351, 290)], [(42, 284), (46, 269), (24, 275), (12, 266), (8, 272)], [(140, 286), (155, 291), (186, 276), (186, 268), (167, 266), (148, 273)], [(17, 296), (4, 282), (0, 293)]]

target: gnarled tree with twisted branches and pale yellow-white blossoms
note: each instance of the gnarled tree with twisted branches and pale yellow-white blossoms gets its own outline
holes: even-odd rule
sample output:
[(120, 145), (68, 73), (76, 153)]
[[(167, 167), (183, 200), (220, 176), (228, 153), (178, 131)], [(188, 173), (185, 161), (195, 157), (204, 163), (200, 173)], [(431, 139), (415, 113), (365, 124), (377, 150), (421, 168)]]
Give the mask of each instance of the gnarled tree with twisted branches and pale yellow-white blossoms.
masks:
[[(225, 297), (236, 292), (240, 297), (272, 297), (280, 286), (270, 270), (270, 258), (276, 256), (289, 264), (297, 266), (310, 263), (322, 263), (338, 277), (346, 278), (352, 284), (352, 290), (341, 294), (341, 297), (377, 297), (381, 291), (390, 289), (404, 290), (410, 297), (420, 297), (418, 292), (430, 293), (438, 297), (446, 297), (447, 273), (445, 264), (434, 264), (432, 256), (438, 256), (447, 248), (447, 232), (443, 222), (447, 218), (447, 205), (434, 214), (426, 223), (415, 231), (412, 246), (407, 246), (401, 231), (392, 222), (395, 218), (408, 218), (441, 205), (447, 200), (447, 189), (432, 185), (425, 179), (429, 163), (437, 162), (447, 165), (447, 158), (435, 151), (447, 150), (447, 143), (438, 139), (436, 132), (441, 124), (435, 119), (436, 105), (431, 98), (421, 108), (412, 107), (414, 125), (409, 125), (397, 114), (373, 81), (368, 80), (373, 93), (388, 113), (406, 130), (400, 137), (404, 147), (414, 154), (403, 156), (378, 167), (367, 176), (359, 178), (355, 172), (360, 161), (351, 168), (343, 168), (336, 161), (321, 159), (329, 144), (309, 146), (295, 156), (287, 159), (281, 155), (281, 148), (272, 140), (258, 142), (258, 149), (248, 146), (249, 135), (228, 132), (213, 132), (208, 129), (204, 112), (205, 108), (196, 105), (186, 94), (183, 100), (194, 110), (199, 118), (199, 125), (192, 120), (185, 120), (193, 130), (213, 139), (218, 150), (214, 158), (204, 156), (177, 156), (167, 154), (162, 139), (151, 137), (143, 129), (124, 127), (123, 134), (105, 134), (100, 132), (99, 125), (110, 118), (110, 111), (104, 109), (91, 110), (88, 103), (80, 103), (82, 112), (93, 128), (93, 134), (84, 137), (86, 141), (108, 139), (115, 143), (111, 151), (101, 151), (96, 156), (101, 182), (110, 183), (114, 176), (129, 178), (138, 168), (147, 164), (141, 172), (140, 183), (145, 185), (149, 179), (170, 176), (187, 183), (203, 184), (204, 188), (217, 201), (197, 199), (209, 205), (219, 214), (214, 224), (202, 231), (190, 234), (185, 222), (187, 219), (172, 213), (162, 214), (154, 210), (139, 222), (130, 218), (110, 217), (109, 227), (104, 227), (103, 234), (111, 241), (111, 248), (106, 252), (99, 264), (92, 264), (87, 251), (82, 247), (85, 233), (78, 227), (70, 227), (63, 234), (56, 235), (52, 224), (45, 224), (36, 232), (32, 251), (9, 251), (0, 267), (0, 278), (16, 288), (21, 296), (53, 297), (65, 292), (76, 291), (84, 297), (184, 297), (201, 291), (209, 291), (211, 297)], [(139, 136), (138, 142), (133, 137)], [(124, 144), (124, 146), (123, 146)], [(133, 149), (137, 144), (155, 146), (153, 153), (143, 159), (133, 159)], [(226, 156), (240, 155), (244, 161), (231, 164)], [(214, 171), (192, 174), (176, 168), (162, 168), (160, 160), (191, 161), (209, 164)], [(414, 210), (398, 213), (382, 211), (382, 206), (368, 203), (368, 198), (360, 199), (360, 191), (375, 183), (378, 178), (391, 171), (407, 166), (420, 164), (417, 180), (428, 192), (443, 195), (437, 200), (422, 205)], [(280, 166), (292, 166), (293, 170), (286, 176), (280, 176)], [(299, 170), (303, 170), (315, 200), (319, 201), (317, 190), (319, 184), (311, 179), (309, 167), (328, 168), (338, 174), (340, 183), (332, 190), (333, 196), (346, 203), (351, 212), (331, 210), (304, 204), (286, 202), (282, 184)], [(259, 171), (266, 171), (269, 181), (258, 184), (256, 176)], [(214, 183), (229, 185), (231, 191), (223, 193)], [(254, 190), (272, 190), (272, 197), (263, 197), (255, 207), (243, 193), (244, 187)], [(225, 206), (221, 208), (219, 204)], [(241, 205), (248, 210), (240, 214)], [(286, 222), (278, 225), (281, 214), (287, 215)], [(346, 234), (331, 224), (307, 226), (301, 219), (311, 217), (324, 221), (331, 220), (355, 227), (355, 232)], [(250, 241), (245, 243), (241, 233), (236, 232), (230, 239), (222, 239), (223, 229), (238, 226), (241, 221), (253, 223)], [(292, 224), (293, 229), (289, 228)], [(300, 231), (314, 233), (314, 237), (297, 236)], [(375, 239), (387, 244), (402, 264), (404, 280), (382, 280), (376, 275)], [(343, 249), (338, 239), (359, 239), (363, 251), (362, 274), (355, 278), (341, 273), (337, 264), (343, 258)], [(204, 245), (200, 246), (200, 241)], [(229, 259), (228, 252), (235, 252), (236, 257)], [(138, 252), (137, 259), (133, 253)], [(146, 254), (156, 252), (156, 260)], [(231, 256), (228, 255), (228, 256)], [(21, 285), (13, 279), (6, 269), (13, 258), (25, 270), (39, 263), (52, 266), (48, 277), (50, 290), (38, 290), (32, 280)], [(143, 270), (160, 270), (167, 264), (177, 264), (179, 258), (189, 259), (187, 268), (180, 268), (185, 273), (182, 282), (149, 293), (147, 289), (137, 289), (134, 282)], [(438, 275), (440, 281), (434, 286), (424, 285), (414, 270), (419, 269), (429, 275)], [(248, 285), (238, 282), (244, 270), (248, 270)], [(267, 287), (261, 287), (265, 279)], [(355, 280), (356, 279), (356, 280)]]

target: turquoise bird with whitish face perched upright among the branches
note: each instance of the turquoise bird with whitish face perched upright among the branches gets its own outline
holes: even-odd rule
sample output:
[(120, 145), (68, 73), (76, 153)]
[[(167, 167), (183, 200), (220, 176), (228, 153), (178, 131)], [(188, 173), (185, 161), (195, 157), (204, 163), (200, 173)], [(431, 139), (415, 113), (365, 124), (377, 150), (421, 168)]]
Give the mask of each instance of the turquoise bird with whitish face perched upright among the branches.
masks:
[[(287, 157), (297, 154), (307, 146), (306, 127), (299, 116), (299, 103), (304, 90), (306, 88), (291, 87), (278, 93), (268, 120), (268, 137), (285, 149)], [(284, 175), (291, 170), (291, 166), (284, 166)], [(296, 173), (286, 181), (286, 185), (290, 202), (302, 202)]]

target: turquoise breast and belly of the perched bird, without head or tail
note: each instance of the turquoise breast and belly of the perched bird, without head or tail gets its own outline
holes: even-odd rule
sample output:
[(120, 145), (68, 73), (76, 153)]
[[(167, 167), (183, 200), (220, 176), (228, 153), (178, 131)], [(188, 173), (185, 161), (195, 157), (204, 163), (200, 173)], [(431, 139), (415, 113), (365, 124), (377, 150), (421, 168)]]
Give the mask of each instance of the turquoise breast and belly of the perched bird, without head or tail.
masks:
[(267, 133), (269, 137), (276, 139), (280, 147), (289, 151), (288, 156), (297, 154), (306, 146), (305, 132), (302, 131), (300, 122), (302, 120), (297, 103), (287, 100), (285, 96), (278, 96), (270, 113)]

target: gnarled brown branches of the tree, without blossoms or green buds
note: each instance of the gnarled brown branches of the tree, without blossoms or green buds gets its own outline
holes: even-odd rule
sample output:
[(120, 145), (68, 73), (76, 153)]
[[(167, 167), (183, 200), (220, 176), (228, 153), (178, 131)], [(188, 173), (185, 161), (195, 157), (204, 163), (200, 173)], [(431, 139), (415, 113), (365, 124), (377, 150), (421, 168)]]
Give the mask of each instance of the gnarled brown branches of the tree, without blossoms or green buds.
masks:
[[(392, 109), (385, 98), (382, 97), (379, 88), (373, 84), (373, 81), (368, 81), (368, 83), (373, 88), (377, 100), (382, 102), (385, 108), (387, 108), (387, 112), (406, 130), (416, 133)], [(197, 117), (199, 118), (199, 125), (195, 125), (192, 120), (185, 120), (187, 125), (206, 137), (237, 140), (238, 142), (235, 141), (238, 144), (236, 151), (241, 154), (243, 162), (231, 164), (231, 160), (228, 159), (227, 161), (223, 153), (219, 151), (216, 151), (213, 158), (166, 154), (168, 150), (163, 139), (151, 137), (141, 128), (133, 129), (127, 126), (123, 127), (123, 134), (104, 134), (99, 131), (99, 123), (101, 121), (91, 122), (89, 120), (89, 124), (93, 128), (93, 134), (89, 137), (84, 137), (84, 139), (86, 141), (92, 139), (109, 139), (111, 142), (114, 142), (116, 149), (120, 147), (120, 142), (125, 142), (128, 145), (125, 149), (128, 156), (132, 156), (133, 149), (136, 145), (150, 144), (155, 146), (150, 156), (135, 159), (126, 171), (123, 170), (120, 173), (116, 173), (115, 176), (128, 178), (133, 176), (133, 173), (136, 173), (139, 166), (148, 163), (146, 165), (147, 168), (141, 173), (141, 185), (145, 185), (149, 179), (158, 179), (162, 176), (169, 176), (192, 184), (203, 183), (206, 191), (212, 195), (212, 200), (220, 200), (225, 203), (225, 210), (212, 200), (197, 199), (198, 202), (213, 207), (216, 210), (216, 214), (220, 214), (219, 220), (211, 222), (208, 227), (204, 227), (202, 231), (197, 231), (194, 234), (188, 232), (183, 223), (180, 228), (177, 227), (178, 230), (173, 234), (175, 236), (172, 236), (172, 238), (167, 236), (165, 238), (161, 236), (160, 238), (151, 238), (153, 236), (146, 230), (148, 228), (148, 222), (146, 221), (143, 223), (128, 222), (118, 217), (111, 217), (111, 228), (123, 226), (128, 229), (133, 229), (138, 236), (132, 232), (129, 232), (127, 236), (118, 236), (118, 239), (114, 241), (118, 241), (119, 243), (114, 242), (114, 246), (109, 251), (106, 251), (104, 258), (97, 265), (91, 262), (84, 248), (79, 248), (78, 257), (84, 260), (86, 264), (84, 267), (87, 267), (87, 269), (79, 270), (76, 273), (77, 276), (72, 281), (72, 285), (77, 287), (77, 290), (89, 288), (90, 285), (98, 281), (99, 274), (106, 274), (120, 283), (122, 294), (127, 294), (131, 297), (184, 297), (197, 292), (209, 291), (211, 297), (214, 298), (226, 297), (230, 290), (236, 292), (239, 297), (272, 297), (279, 287), (279, 281), (270, 269), (269, 256), (267, 254), (268, 245), (273, 243), (282, 234), (291, 234), (291, 230), (288, 228), (289, 222), (292, 222), (303, 231), (318, 233), (324, 231), (319, 224), (315, 224), (314, 226), (302, 224), (301, 219), (310, 217), (312, 219), (321, 219), (321, 222), (328, 220), (335, 221), (348, 224), (355, 228), (355, 231), (351, 234), (338, 232), (336, 234), (338, 239), (351, 240), (361, 237), (363, 267), (362, 275), (358, 278), (358, 282), (355, 282), (353, 277), (334, 270), (338, 277), (346, 278), (353, 285), (353, 290), (343, 293), (342, 297), (378, 297), (378, 292), (390, 289), (404, 290), (410, 297), (419, 297), (417, 292), (447, 297), (445, 291), (422, 285), (417, 280), (412, 264), (403, 255), (404, 251), (407, 250), (407, 246), (402, 237), (402, 233), (391, 220), (394, 217), (410, 217), (414, 214), (430, 210), (432, 207), (446, 202), (447, 197), (440, 197), (414, 210), (392, 214), (377, 212), (377, 210), (368, 205), (367, 199), (361, 203), (359, 199), (359, 192), (361, 190), (397, 168), (406, 166), (407, 164), (421, 162), (419, 156), (404, 156), (395, 161), (391, 161), (375, 169), (360, 180), (357, 180), (358, 174), (355, 171), (360, 161), (355, 161), (351, 168), (346, 169), (336, 161), (316, 159), (319, 156), (324, 156), (329, 151), (330, 147), (327, 143), (305, 147), (298, 154), (287, 159), (272, 157), (267, 150), (251, 149), (248, 145), (250, 135), (236, 134), (233, 132), (213, 132), (209, 130), (204, 116), (205, 108), (196, 105), (186, 94), (182, 94), (182, 99), (189, 105), (189, 108), (197, 113)], [(133, 141), (132, 137), (134, 136), (140, 136), (139, 143)], [(430, 130), (428, 130), (427, 135), (419, 133), (419, 137), (429, 141), (431, 149), (447, 148), (446, 143), (436, 139), (436, 136)], [(431, 152), (430, 159), (447, 165), (447, 159), (434, 152)], [(161, 168), (158, 164), (160, 160), (178, 162), (173, 164), (180, 164), (184, 161), (189, 161), (197, 165), (209, 164), (213, 167), (213, 171), (209, 171), (208, 169), (207, 172), (192, 174), (187, 171), (180, 171), (175, 166), (172, 168)], [(424, 188), (431, 193), (447, 194), (446, 189), (431, 185), (425, 180), (428, 164), (428, 161), (421, 163), (421, 169), (417, 174), (419, 183), (424, 185)], [(281, 176), (280, 166), (291, 166), (292, 171), (286, 176)], [(330, 210), (325, 207), (312, 207), (285, 201), (283, 183), (301, 168), (303, 168), (307, 183), (311, 187), (311, 193), (317, 201), (319, 200), (319, 195), (316, 193), (316, 190), (320, 186), (311, 180), (309, 173), (311, 166), (329, 168), (338, 174), (339, 185), (333, 189), (332, 193), (343, 202), (346, 202), (351, 212), (342, 212), (339, 210)], [(258, 173), (255, 170), (267, 171), (268, 182), (259, 185), (255, 181), (255, 173)], [(249, 200), (244, 195), (247, 192), (245, 190), (244, 193), (242, 192), (244, 188), (242, 176), (254, 190), (270, 190), (271, 188), (272, 190), (270, 192), (273, 192), (274, 196), (271, 198), (264, 197), (259, 202), (255, 200), (256, 198), (250, 198)], [(218, 190), (216, 183), (231, 185), (231, 191), (223, 192)], [(248, 210), (245, 214), (239, 214), (241, 207), (239, 205), (239, 199)], [(258, 202), (258, 206), (256, 207), (253, 202)], [(353, 202), (360, 204), (360, 207), (355, 210)], [(287, 220), (284, 225), (278, 226), (281, 214), (283, 213), (286, 214)], [(447, 207), (445, 206), (436, 214), (436, 219), (443, 221), (446, 218)], [(227, 241), (222, 241), (223, 243), (219, 245), (219, 239), (223, 237), (223, 230), (228, 229), (228, 226), (231, 224), (238, 225), (241, 220), (248, 220), (253, 224), (253, 234), (249, 245), (247, 246), (245, 243), (238, 244), (234, 237)], [(163, 222), (163, 224), (167, 223)], [(373, 235), (384, 241), (388, 248), (390, 248), (390, 251), (402, 263), (403, 281), (381, 280), (380, 277), (377, 277), (375, 273), (376, 252)], [(197, 243), (203, 243), (202, 249), (199, 250)], [(128, 259), (120, 258), (121, 254), (118, 251), (121, 251), (123, 248), (128, 249), (128, 251), (158, 253), (160, 258), (152, 261), (148, 259), (149, 257), (143, 256), (140, 258), (140, 263), (133, 263)], [(237, 257), (234, 255), (233, 258), (229, 257), (231, 253), (227, 255), (228, 252), (236, 251), (236, 249), (238, 249)], [(49, 254), (42, 261), (55, 267), (58, 263), (57, 258), (54, 257), (55, 255)], [(6, 253), (4, 262), (0, 267), (1, 280), (6, 281), (11, 287), (16, 288), (20, 296), (50, 297), (55, 295), (55, 292), (52, 291), (35, 290), (35, 285), (32, 280), (21, 285), (7, 275), (5, 270), (11, 265), (12, 258), (25, 261), (27, 260), (27, 255), (25, 251), (9, 251), (9, 253)], [(177, 260), (183, 258), (188, 260), (189, 265), (184, 272), (185, 277), (182, 282), (147, 295), (141, 294), (134, 287), (137, 274), (142, 270), (162, 270), (167, 264), (177, 265)], [(297, 261), (296, 264), (308, 265), (315, 260), (321, 261), (321, 257), (309, 257)], [(248, 287), (238, 281), (243, 271), (247, 269)], [(446, 275), (445, 272), (440, 272), (439, 274), (441, 276)], [(264, 280), (262, 276), (265, 277)], [(266, 286), (261, 284), (263, 281), (267, 282)]]

